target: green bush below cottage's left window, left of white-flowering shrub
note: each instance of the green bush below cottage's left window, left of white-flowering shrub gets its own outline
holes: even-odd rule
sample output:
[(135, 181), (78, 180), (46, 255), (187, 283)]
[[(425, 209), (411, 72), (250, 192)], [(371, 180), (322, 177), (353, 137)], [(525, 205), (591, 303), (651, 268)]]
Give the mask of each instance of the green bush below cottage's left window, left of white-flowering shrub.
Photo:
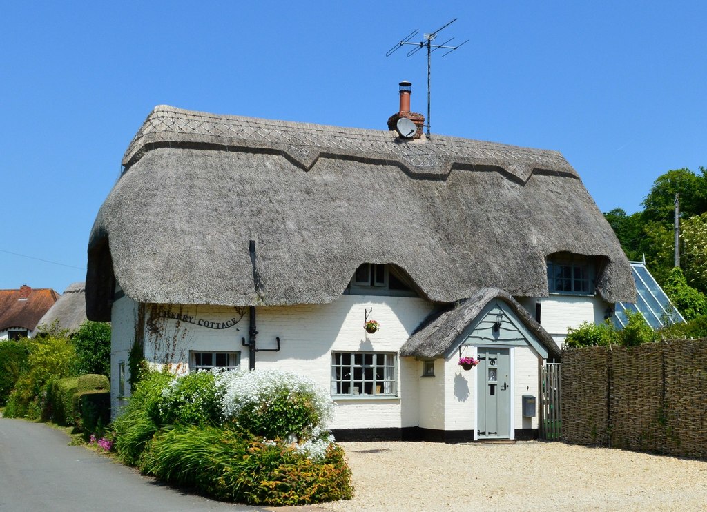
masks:
[(214, 423), (220, 419), (221, 397), (211, 371), (195, 371), (178, 377), (162, 393), (159, 404), (162, 424)]

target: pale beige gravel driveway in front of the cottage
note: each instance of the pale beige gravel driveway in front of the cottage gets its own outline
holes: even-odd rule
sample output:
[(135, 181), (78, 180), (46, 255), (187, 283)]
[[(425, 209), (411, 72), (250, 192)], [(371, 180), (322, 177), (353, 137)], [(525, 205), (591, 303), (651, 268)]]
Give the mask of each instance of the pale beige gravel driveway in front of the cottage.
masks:
[(341, 443), (334, 511), (704, 511), (707, 462), (565, 443)]

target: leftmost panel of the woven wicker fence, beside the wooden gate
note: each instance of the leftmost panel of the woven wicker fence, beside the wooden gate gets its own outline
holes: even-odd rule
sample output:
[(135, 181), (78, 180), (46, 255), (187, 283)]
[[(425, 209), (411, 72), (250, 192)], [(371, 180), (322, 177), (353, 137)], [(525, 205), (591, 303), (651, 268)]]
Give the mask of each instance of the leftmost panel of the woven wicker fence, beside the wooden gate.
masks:
[(607, 351), (586, 347), (562, 353), (562, 437), (576, 444), (607, 444)]

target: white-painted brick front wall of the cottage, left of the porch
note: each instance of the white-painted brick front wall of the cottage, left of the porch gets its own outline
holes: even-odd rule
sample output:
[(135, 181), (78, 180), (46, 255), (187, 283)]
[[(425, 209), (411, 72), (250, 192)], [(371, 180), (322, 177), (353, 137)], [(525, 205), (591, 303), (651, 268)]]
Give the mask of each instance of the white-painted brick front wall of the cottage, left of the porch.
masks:
[[(374, 334), (368, 334), (363, 329), (365, 311), (371, 308), (369, 319), (380, 323), (380, 330)], [(247, 309), (243, 310), (245, 314), (242, 318), (235, 308), (221, 306), (173, 306), (170, 309), (173, 313), (215, 323), (240, 318), (235, 326), (221, 330), (175, 318), (150, 318), (151, 309), (156, 308), (147, 306), (147, 309), (145, 356), (157, 367), (166, 365), (176, 373), (186, 372), (189, 371), (190, 350), (224, 350), (240, 351), (240, 367), (247, 369), (248, 348), (241, 343), (241, 338), (248, 338)], [(330, 389), (332, 350), (397, 353), (432, 309), (432, 304), (419, 298), (370, 295), (342, 295), (331, 304), (259, 307), (256, 316), (257, 346), (261, 349), (275, 348), (276, 338), (279, 337), (281, 350), (258, 352), (256, 367), (304, 374)], [(117, 310), (114, 310), (115, 313)], [(419, 421), (421, 362), (398, 357), (397, 364), (396, 398), (337, 399), (334, 422), (330, 428), (415, 426)], [(117, 371), (117, 366), (115, 368)]]

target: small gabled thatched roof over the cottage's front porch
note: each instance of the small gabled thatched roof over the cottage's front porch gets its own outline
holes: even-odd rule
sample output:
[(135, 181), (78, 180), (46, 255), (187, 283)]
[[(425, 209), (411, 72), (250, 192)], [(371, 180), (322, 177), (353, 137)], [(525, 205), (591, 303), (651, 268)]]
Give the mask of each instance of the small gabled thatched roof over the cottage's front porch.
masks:
[(559, 361), (559, 347), (547, 331), (530, 316), (530, 313), (518, 301), (503, 290), (493, 287), (479, 290), (469, 299), (431, 314), (401, 347), (400, 355), (423, 359), (446, 357), (448, 352), (454, 348), (453, 345), (458, 341), (462, 331), (479, 316), (486, 304), (495, 299), (501, 299), (510, 306), (510, 309), (518, 316), (527, 330), (547, 348), (549, 359)]

